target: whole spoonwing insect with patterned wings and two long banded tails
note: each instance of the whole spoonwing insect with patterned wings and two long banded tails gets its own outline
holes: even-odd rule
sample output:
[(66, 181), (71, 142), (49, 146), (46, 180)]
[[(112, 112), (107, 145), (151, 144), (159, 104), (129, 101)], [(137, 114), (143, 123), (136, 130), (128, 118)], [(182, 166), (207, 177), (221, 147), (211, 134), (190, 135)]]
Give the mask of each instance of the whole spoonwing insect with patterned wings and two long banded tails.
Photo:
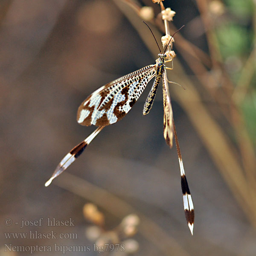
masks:
[[(157, 42), (155, 37), (154, 39)], [(169, 41), (167, 47), (169, 46), (171, 40)], [(160, 50), (159, 46), (158, 48)], [(158, 58), (155, 64), (143, 67), (140, 70), (134, 71), (133, 73), (122, 76), (108, 84), (105, 84), (104, 86), (100, 87), (98, 90), (90, 94), (90, 96), (88, 96), (87, 99), (82, 102), (77, 112), (77, 122), (81, 125), (86, 126), (96, 125), (98, 126), (98, 128), (93, 131), (93, 133), (90, 134), (89, 137), (76, 145), (61, 160), (61, 162), (55, 169), (55, 172), (52, 174), (52, 177), (45, 183), (45, 186), (49, 186), (49, 184), (55, 177), (64, 172), (64, 170), (67, 169), (67, 167), (70, 166), (70, 164), (73, 163), (81, 155), (87, 145), (90, 144), (90, 142), (97, 136), (97, 134), (99, 134), (100, 131), (102, 131), (105, 126), (111, 125), (121, 120), (133, 107), (148, 82), (154, 78), (153, 86), (148, 94), (143, 108), (143, 115), (148, 114), (153, 105), (157, 87), (160, 83), (160, 80), (162, 80), (164, 107), (163, 135), (166, 143), (169, 145), (170, 148), (172, 148), (173, 135), (175, 137), (180, 165), (181, 188), (183, 193), (183, 206), (185, 211), (185, 217), (189, 229), (193, 235), (194, 207), (185, 176), (183, 162), (180, 154), (180, 146), (177, 140), (176, 128), (172, 114), (171, 99), (169, 94), (169, 81), (166, 75), (166, 70), (172, 70), (172, 68), (166, 67), (165, 63), (172, 61), (173, 58), (165, 61), (166, 49), (163, 53), (160, 50), (160, 54), (158, 54)]]

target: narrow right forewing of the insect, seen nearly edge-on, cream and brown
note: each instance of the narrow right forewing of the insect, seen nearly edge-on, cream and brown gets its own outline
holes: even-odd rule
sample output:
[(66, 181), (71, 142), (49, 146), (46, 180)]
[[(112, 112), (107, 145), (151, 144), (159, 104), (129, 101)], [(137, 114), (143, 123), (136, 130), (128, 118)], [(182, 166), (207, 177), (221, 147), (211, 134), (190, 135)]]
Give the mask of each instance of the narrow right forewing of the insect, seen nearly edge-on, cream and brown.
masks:
[(163, 72), (163, 136), (166, 143), (172, 148), (173, 123), (172, 123), (172, 104), (169, 93), (168, 79), (166, 70)]

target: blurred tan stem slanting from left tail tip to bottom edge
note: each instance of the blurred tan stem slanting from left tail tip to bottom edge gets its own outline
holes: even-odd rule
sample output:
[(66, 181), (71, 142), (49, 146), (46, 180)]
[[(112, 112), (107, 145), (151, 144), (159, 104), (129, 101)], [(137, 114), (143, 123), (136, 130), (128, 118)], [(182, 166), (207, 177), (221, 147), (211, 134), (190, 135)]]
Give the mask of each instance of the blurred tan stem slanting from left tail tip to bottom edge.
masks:
[(169, 236), (160, 226), (150, 218), (138, 212), (125, 201), (111, 194), (110, 192), (89, 183), (79, 177), (67, 172), (63, 173), (54, 181), (55, 185), (67, 189), (68, 191), (92, 201), (119, 219), (126, 215), (135, 213), (140, 218), (139, 232), (159, 249), (160, 254), (169, 256), (170, 252), (174, 255), (189, 256), (177, 241)]

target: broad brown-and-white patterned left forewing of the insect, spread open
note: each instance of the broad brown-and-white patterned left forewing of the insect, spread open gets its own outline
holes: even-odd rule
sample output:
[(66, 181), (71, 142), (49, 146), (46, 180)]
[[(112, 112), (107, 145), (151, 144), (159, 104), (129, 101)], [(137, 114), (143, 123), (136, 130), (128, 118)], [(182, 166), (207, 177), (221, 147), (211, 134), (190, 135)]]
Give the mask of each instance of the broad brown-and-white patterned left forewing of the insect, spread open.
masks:
[(106, 126), (122, 119), (155, 76), (154, 67), (144, 67), (93, 92), (78, 109), (79, 124)]

